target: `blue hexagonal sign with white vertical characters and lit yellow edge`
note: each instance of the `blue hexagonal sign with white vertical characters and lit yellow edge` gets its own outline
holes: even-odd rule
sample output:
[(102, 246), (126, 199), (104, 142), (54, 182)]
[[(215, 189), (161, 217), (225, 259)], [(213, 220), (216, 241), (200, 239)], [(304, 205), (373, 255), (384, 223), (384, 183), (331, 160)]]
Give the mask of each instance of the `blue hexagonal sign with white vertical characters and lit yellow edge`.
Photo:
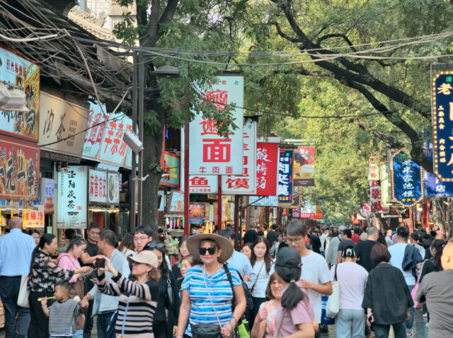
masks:
[(396, 153), (391, 160), (391, 197), (403, 206), (412, 206), (423, 199), (423, 170), (405, 153)]

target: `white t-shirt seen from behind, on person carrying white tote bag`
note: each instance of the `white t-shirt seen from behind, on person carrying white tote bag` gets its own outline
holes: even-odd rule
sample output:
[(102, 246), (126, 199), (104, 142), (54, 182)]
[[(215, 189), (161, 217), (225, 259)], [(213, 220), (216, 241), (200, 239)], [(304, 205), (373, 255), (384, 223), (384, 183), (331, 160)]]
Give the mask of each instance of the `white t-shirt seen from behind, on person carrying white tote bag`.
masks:
[[(335, 266), (331, 268), (331, 276), (335, 276)], [(354, 262), (338, 264), (337, 280), (340, 283), (340, 309), (363, 310), (362, 301), (367, 284), (368, 272)]]

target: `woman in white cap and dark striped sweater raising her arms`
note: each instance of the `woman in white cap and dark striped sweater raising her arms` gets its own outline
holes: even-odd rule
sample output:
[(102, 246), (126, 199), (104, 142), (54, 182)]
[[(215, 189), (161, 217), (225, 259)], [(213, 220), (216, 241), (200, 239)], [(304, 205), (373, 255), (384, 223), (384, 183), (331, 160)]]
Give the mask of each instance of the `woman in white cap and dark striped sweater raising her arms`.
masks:
[[(132, 262), (132, 275), (136, 280), (131, 281), (113, 267), (108, 257), (105, 269), (98, 269), (99, 291), (110, 295), (120, 296), (118, 315), (115, 324), (116, 337), (154, 337), (153, 318), (156, 312), (159, 286), (156, 281), (160, 278), (159, 262), (154, 252), (144, 250), (135, 257), (127, 257)], [(113, 274), (114, 283), (105, 282), (104, 271)]]

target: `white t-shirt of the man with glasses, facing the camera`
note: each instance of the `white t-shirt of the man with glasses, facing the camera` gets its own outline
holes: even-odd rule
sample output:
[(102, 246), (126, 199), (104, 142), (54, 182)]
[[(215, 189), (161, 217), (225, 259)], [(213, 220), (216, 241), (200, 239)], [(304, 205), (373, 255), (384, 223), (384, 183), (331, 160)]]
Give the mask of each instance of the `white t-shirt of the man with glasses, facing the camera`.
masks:
[[(311, 251), (309, 255), (300, 257), (302, 262), (302, 274), (301, 279), (305, 279), (310, 283), (324, 284), (328, 281), (332, 281), (331, 272), (328, 271), (327, 262), (318, 253)], [(317, 293), (313, 290), (307, 290), (310, 298), (310, 302), (314, 308), (314, 317), (317, 322), (321, 322), (321, 293)]]

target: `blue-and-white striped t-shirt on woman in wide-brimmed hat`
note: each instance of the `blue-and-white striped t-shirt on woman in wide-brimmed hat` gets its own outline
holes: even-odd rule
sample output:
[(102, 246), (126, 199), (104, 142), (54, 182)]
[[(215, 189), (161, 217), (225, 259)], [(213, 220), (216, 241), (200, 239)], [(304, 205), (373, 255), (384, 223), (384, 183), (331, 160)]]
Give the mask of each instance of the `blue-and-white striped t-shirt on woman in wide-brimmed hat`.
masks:
[[(242, 285), (236, 269), (229, 267), (229, 271), (233, 286)], [(189, 292), (190, 324), (220, 322), (220, 325), (225, 325), (233, 317), (233, 290), (224, 268), (209, 275), (203, 272), (201, 265), (195, 265), (185, 275), (182, 288)], [(185, 334), (192, 336), (190, 325)]]

